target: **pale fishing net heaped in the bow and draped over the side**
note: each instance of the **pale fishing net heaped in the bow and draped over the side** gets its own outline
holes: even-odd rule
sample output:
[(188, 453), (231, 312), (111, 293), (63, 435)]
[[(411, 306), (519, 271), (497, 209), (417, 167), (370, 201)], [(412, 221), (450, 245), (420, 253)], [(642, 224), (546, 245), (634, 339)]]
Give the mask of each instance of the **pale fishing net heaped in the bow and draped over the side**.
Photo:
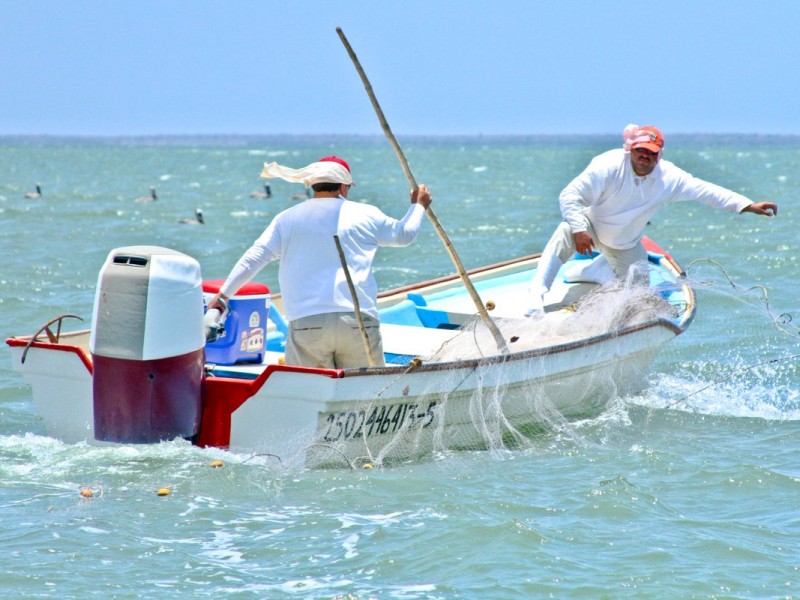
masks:
[[(568, 431), (576, 420), (599, 415), (611, 399), (642, 389), (660, 346), (632, 350), (620, 332), (675, 318), (680, 310), (633, 278), (597, 287), (565, 310), (496, 319), (511, 352), (530, 353), (526, 360), (498, 356), (486, 324), (472, 318), (422, 357), (423, 364), (438, 365), (435, 377), (409, 366), (366, 408), (362, 436), (317, 439), (305, 448), (306, 466), (359, 468), (451, 451), (506, 452), (543, 432)], [(601, 339), (580, 349), (593, 337)], [(403, 397), (408, 389), (412, 396)], [(397, 390), (406, 392), (398, 397)]]

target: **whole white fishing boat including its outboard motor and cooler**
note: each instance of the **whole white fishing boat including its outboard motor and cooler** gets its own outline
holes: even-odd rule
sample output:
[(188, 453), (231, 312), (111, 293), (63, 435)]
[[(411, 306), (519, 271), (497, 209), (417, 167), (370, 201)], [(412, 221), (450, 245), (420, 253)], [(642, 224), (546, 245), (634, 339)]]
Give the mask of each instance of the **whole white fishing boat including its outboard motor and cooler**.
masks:
[(507, 448), (641, 391), (659, 350), (687, 329), (694, 292), (668, 252), (645, 245), (649, 285), (608, 283), (602, 257), (576, 255), (534, 317), (539, 255), (469, 271), (500, 345), (458, 275), (387, 290), (386, 366), (285, 364), (280, 295), (263, 284), (240, 290), (209, 337), (203, 304), (219, 281), (151, 246), (109, 254), (90, 328), (66, 331), (80, 317), (59, 315), (6, 343), (46, 431), (66, 442), (183, 438), (302, 467)]

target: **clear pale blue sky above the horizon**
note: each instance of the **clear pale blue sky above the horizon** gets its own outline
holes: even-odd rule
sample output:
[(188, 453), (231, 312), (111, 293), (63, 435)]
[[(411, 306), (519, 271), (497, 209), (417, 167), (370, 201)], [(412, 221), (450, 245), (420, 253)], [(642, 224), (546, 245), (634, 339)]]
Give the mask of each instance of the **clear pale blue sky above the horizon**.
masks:
[(800, 134), (800, 1), (0, 0), (2, 134)]

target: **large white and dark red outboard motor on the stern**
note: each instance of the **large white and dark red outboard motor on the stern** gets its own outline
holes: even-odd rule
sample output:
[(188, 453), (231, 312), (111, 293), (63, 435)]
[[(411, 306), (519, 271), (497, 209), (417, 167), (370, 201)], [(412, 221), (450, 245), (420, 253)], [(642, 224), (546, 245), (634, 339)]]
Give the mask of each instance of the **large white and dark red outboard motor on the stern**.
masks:
[(204, 345), (198, 262), (157, 246), (112, 250), (90, 340), (95, 438), (151, 443), (197, 434)]

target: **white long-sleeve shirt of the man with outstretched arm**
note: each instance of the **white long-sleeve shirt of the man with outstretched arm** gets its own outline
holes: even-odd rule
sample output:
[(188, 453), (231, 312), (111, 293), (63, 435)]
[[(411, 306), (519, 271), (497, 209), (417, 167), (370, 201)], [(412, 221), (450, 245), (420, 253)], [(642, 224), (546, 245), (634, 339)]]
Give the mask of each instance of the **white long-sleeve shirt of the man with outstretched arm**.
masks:
[(618, 148), (596, 156), (559, 196), (561, 214), (573, 233), (586, 231), (589, 219), (598, 241), (626, 250), (638, 244), (647, 222), (669, 202), (697, 200), (710, 206), (742, 212), (752, 200), (703, 181), (666, 160), (638, 176), (630, 152)]

